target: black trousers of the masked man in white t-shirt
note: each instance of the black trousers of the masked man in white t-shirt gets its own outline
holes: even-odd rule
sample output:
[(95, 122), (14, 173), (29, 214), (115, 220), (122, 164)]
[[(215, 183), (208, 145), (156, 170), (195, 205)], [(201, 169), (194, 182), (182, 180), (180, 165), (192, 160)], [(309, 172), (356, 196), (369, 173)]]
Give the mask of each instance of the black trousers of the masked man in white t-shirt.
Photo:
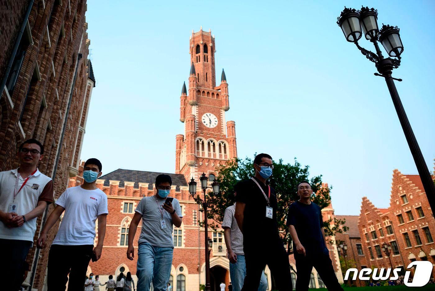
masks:
[[(48, 291), (64, 291), (68, 281), (68, 291), (84, 289), (86, 271), (94, 246), (52, 244), (48, 254)], [(68, 274), (70, 278), (68, 280)]]

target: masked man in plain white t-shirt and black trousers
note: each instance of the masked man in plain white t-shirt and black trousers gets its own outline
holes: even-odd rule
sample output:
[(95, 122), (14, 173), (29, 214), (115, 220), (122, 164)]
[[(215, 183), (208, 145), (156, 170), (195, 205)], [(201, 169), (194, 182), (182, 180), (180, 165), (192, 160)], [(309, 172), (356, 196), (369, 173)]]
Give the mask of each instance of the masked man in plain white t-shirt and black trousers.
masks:
[[(83, 290), (90, 259), (100, 259), (108, 214), (107, 195), (95, 186), (101, 167), (101, 162), (95, 158), (85, 162), (83, 184), (67, 188), (60, 195), (38, 238), (37, 247), (43, 248), (48, 231), (65, 211), (48, 255), (48, 291), (65, 290), (68, 280), (68, 291)], [(97, 219), (98, 244), (94, 248)]]

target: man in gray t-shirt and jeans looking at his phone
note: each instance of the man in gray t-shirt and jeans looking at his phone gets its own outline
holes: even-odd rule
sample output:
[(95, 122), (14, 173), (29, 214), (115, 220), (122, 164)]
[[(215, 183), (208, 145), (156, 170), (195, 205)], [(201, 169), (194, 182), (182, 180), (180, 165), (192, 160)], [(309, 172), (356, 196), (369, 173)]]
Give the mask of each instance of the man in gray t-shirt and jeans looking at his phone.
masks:
[(137, 249), (137, 290), (150, 290), (152, 281), (154, 291), (166, 291), (174, 252), (172, 227), (180, 227), (183, 216), (177, 199), (171, 197), (172, 202), (165, 202), (171, 191), (171, 177), (160, 174), (155, 185), (156, 194), (142, 198), (130, 223), (127, 258), (133, 261), (134, 235), (142, 219)]

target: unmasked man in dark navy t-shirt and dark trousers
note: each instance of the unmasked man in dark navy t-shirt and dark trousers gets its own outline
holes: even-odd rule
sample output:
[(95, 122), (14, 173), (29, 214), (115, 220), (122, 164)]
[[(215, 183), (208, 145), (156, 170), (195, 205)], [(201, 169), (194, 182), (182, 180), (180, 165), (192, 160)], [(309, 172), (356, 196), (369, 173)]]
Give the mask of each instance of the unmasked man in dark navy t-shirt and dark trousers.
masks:
[[(288, 209), (287, 225), (293, 239), (296, 261), (296, 290), (308, 290), (313, 267), (328, 290), (343, 290), (338, 283), (329, 251), (320, 207), (311, 202), (311, 185), (303, 181), (298, 185), (299, 200)], [(319, 278), (320, 279), (320, 278)]]

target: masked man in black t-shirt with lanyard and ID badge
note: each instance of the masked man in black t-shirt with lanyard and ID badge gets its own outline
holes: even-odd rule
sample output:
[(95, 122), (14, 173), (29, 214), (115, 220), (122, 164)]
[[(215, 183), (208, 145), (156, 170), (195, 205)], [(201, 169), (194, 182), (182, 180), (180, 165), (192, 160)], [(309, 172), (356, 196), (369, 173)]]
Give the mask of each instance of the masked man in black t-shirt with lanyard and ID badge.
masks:
[(266, 184), (273, 164), (268, 154), (254, 159), (255, 176), (236, 187), (234, 217), (243, 234), (246, 276), (242, 291), (258, 290), (266, 264), (279, 291), (292, 290), (288, 255), (278, 233), (275, 190)]

